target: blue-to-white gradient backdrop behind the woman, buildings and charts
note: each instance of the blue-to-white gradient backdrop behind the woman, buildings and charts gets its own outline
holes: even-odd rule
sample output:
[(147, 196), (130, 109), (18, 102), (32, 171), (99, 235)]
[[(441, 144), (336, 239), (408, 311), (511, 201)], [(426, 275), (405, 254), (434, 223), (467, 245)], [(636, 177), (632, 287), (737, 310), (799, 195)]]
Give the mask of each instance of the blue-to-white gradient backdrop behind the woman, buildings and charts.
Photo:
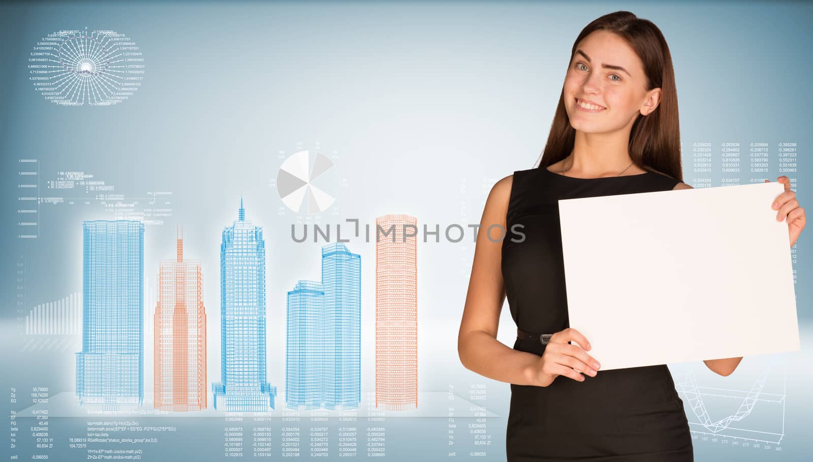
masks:
[[(358, 218), (374, 224), (385, 213), (408, 213), (418, 217), (419, 226), (441, 224), (441, 230), (451, 223), (475, 224), (493, 182), (532, 167), (542, 150), (572, 41), (591, 20), (617, 10), (652, 20), (667, 39), (684, 146), (795, 142), (798, 200), (808, 206), (813, 7), (804, 2), (2, 4), (4, 332), (19, 325), (17, 259), (26, 259), (26, 311), (80, 291), (81, 221), (110, 218), (101, 207), (43, 204), (41, 237), (16, 239), (17, 159), (40, 159), (43, 181), (58, 171), (84, 170), (125, 195), (173, 192), (173, 216), (164, 226), (148, 226), (145, 233), (145, 277), (154, 290), (158, 259), (172, 258), (175, 224), (183, 224), (185, 255), (203, 262), (208, 381), (220, 380), (220, 232), (236, 218), (242, 193), (246, 215), (265, 229), (268, 379), (284, 385), (285, 292), (298, 279), (318, 274), (321, 243), (290, 239), (296, 218), (290, 211), (280, 214), (280, 207), (285, 208), (269, 187), (282, 158), (296, 152), (297, 143), (301, 149), (315, 150), (320, 143), (324, 152), (337, 151), (345, 185), (337, 198), (338, 213), (323, 216), (325, 223)], [(128, 101), (111, 107), (60, 107), (28, 81), (27, 59), (37, 41), (60, 29), (85, 26), (124, 33), (144, 54), (145, 79)], [(684, 179), (691, 184), (688, 153), (685, 147)], [(769, 177), (776, 181), (778, 175)], [(810, 233), (806, 230), (798, 240), (794, 266), (802, 351), (746, 358), (729, 377), (717, 377), (702, 364), (671, 365), (673, 372), (695, 373), (706, 386), (747, 390), (771, 364), (774, 381), (782, 383), (786, 377), (782, 451), (767, 454), (695, 440), (696, 460), (810, 459)], [(474, 250), (469, 238), (458, 244), (441, 238), (440, 243), (419, 245), (420, 390), (485, 384), (487, 408), (500, 417), (489, 420), (493, 441), (487, 457), (480, 459), (504, 460), (508, 385), (466, 370), (456, 351)], [(351, 239), (348, 248), (362, 255), (362, 342), (369, 352), (375, 340), (375, 246)], [(149, 313), (145, 306), (146, 322), (151, 322)], [(498, 338), (511, 345), (514, 328), (506, 304)], [(151, 350), (151, 341), (145, 338), (146, 350)], [(21, 356), (13, 336), (2, 342), (3, 390), (73, 390), (72, 351)], [(372, 354), (363, 356), (363, 392), (372, 390), (373, 364)], [(147, 359), (145, 367), (151, 382)], [(786, 376), (777, 372), (781, 368), (787, 368)], [(280, 391), (278, 405), (282, 396)], [(3, 398), (3, 416), (9, 405)], [(210, 431), (207, 419), (177, 420), (192, 437)], [(62, 438), (56, 421), (52, 433)], [(447, 458), (446, 420), (434, 422), (437, 431), (420, 418), (389, 421), (386, 459)], [(219, 435), (222, 420), (211, 426)], [(363, 426), (359, 422), (359, 429)], [(7, 434), (0, 436), (0, 447), (7, 447)], [(150, 451), (144, 460), (205, 455), (211, 449), (183, 441)], [(459, 452), (456, 458), (467, 457)], [(59, 459), (58, 453), (51, 454)], [(63, 457), (84, 460), (76, 452)]]

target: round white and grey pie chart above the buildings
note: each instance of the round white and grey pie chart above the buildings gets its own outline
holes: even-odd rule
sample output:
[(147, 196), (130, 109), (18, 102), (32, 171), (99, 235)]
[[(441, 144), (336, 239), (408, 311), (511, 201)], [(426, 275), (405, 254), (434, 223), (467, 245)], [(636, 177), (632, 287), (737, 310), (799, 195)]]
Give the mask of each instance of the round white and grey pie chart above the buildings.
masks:
[(283, 161), (276, 174), (276, 191), (285, 206), (302, 215), (328, 210), (339, 190), (333, 160), (319, 152), (301, 150)]

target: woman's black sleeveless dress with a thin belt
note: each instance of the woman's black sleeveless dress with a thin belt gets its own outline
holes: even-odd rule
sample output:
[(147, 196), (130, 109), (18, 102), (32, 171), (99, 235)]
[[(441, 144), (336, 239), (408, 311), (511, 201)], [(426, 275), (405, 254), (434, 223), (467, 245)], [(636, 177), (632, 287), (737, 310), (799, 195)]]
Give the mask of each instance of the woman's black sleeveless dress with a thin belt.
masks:
[[(565, 177), (544, 166), (514, 172), (502, 277), (517, 328), (554, 333), (571, 327), (557, 200), (672, 190), (679, 182), (657, 172), (601, 178)], [(524, 242), (511, 242), (519, 238), (511, 231), (514, 224), (524, 225)], [(630, 290), (634, 285), (630, 281)], [(545, 346), (517, 338), (514, 349), (542, 355)], [(584, 376), (559, 376), (545, 387), (511, 384), (510, 462), (693, 460), (689, 422), (666, 364), (599, 368), (596, 377)]]

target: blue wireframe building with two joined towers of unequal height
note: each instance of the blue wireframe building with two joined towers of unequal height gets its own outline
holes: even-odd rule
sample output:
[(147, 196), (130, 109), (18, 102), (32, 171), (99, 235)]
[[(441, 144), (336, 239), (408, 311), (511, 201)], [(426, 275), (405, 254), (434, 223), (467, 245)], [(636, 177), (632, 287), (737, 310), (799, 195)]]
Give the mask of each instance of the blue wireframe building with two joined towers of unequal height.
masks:
[(322, 282), (288, 292), (285, 403), (359, 408), (361, 256), (343, 242), (322, 247)]

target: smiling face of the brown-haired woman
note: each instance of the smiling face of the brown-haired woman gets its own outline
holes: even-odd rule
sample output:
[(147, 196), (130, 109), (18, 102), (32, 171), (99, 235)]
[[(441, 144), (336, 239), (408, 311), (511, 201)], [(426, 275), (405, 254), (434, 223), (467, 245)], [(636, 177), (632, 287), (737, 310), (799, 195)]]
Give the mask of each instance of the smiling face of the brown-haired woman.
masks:
[(645, 85), (643, 63), (623, 38), (606, 31), (590, 33), (576, 46), (564, 79), (570, 124), (585, 133), (632, 127), (638, 114), (646, 116), (658, 106), (660, 89), (648, 92)]

